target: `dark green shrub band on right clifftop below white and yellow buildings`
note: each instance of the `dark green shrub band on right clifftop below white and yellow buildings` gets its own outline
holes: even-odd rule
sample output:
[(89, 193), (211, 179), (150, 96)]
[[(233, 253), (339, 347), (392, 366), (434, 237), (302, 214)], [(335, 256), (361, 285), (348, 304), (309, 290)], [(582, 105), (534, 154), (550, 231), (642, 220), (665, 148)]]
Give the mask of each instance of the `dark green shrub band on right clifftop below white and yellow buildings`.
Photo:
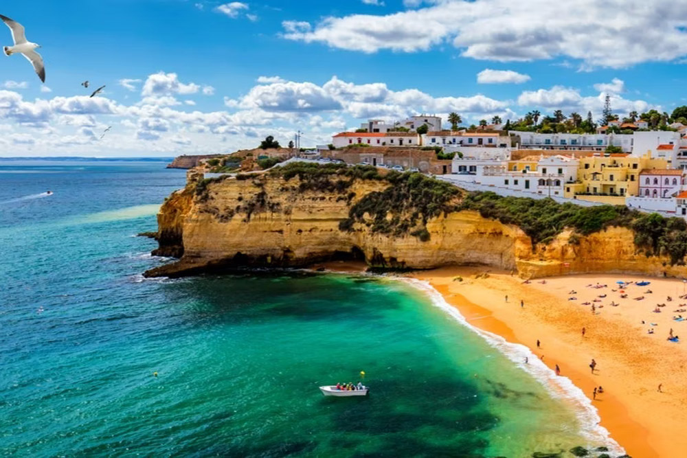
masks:
[[(533, 244), (550, 242), (564, 229), (573, 229), (583, 236), (607, 227), (627, 227), (635, 233), (635, 246), (650, 255), (666, 255), (671, 264), (684, 265), (687, 255), (687, 223), (682, 218), (664, 218), (646, 214), (624, 205), (581, 207), (560, 204), (550, 198), (504, 197), (493, 192), (471, 192), (465, 196), (460, 210), (476, 210), (484, 218), (492, 218), (523, 230)], [(570, 241), (576, 243), (574, 235)]]

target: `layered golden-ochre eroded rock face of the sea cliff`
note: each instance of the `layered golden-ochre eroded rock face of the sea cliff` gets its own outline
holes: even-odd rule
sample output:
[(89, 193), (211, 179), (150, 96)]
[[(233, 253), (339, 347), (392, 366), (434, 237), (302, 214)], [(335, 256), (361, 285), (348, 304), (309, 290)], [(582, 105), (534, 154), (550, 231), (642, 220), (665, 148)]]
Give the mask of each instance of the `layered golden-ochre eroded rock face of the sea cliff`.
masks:
[[(475, 264), (515, 270), (523, 277), (567, 273), (627, 272), (682, 275), (666, 259), (635, 249), (633, 232), (611, 228), (569, 242), (563, 232), (548, 245), (532, 246), (521, 229), (482, 218), (476, 211), (455, 211), (427, 221), (429, 240), (409, 233), (374, 233), (356, 222), (339, 229), (360, 198), (380, 192), (385, 181), (352, 181), (340, 191), (304, 189), (297, 177), (275, 176), (195, 184), (177, 191), (157, 217), (159, 249), (153, 253), (179, 261), (146, 272), (179, 277), (238, 266), (296, 267), (335, 257), (364, 260), (378, 268), (435, 268)], [(665, 265), (664, 265), (665, 264)]]

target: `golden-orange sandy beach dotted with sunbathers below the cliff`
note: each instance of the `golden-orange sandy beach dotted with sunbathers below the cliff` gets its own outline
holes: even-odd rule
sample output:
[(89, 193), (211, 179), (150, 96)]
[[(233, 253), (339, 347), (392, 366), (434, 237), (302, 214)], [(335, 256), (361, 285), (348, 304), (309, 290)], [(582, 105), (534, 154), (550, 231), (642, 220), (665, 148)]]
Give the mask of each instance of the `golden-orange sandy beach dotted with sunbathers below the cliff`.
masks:
[[(486, 277), (476, 277), (485, 272)], [(576, 275), (526, 284), (510, 273), (478, 267), (411, 276), (429, 282), (477, 328), (527, 345), (552, 369), (559, 365), (561, 376), (590, 399), (594, 387), (602, 386), (604, 392), (592, 403), (601, 425), (629, 455), (675, 457), (687, 450), (687, 321), (673, 320), (687, 317), (675, 312), (687, 309), (687, 299), (679, 298), (687, 293), (682, 280)], [(637, 286), (642, 280), (651, 284)], [(620, 289), (618, 281), (634, 283)], [(671, 328), (682, 337), (679, 342), (667, 340)]]

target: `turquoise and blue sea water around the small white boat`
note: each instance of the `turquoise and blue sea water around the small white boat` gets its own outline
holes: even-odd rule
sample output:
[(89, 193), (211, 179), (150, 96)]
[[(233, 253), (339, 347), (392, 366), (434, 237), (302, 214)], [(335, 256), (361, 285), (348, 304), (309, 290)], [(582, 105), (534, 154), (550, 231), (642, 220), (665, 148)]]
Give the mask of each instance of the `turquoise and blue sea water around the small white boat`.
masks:
[[(166, 260), (135, 234), (155, 230), (183, 181), (164, 163), (0, 161), (1, 454), (527, 457), (602, 444), (573, 403), (403, 282), (142, 279)], [(359, 371), (367, 398), (317, 389)]]

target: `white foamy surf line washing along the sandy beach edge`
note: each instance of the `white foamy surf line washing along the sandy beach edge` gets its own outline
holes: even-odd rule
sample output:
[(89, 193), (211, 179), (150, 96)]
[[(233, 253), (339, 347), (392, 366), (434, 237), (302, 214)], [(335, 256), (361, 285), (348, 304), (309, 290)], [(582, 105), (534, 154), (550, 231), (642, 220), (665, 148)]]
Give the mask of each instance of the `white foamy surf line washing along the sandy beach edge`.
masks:
[[(489, 345), (499, 350), (499, 352), (513, 361), (518, 367), (539, 380), (552, 396), (570, 402), (575, 409), (578, 419), (581, 421), (583, 426), (581, 433), (584, 436), (594, 443), (605, 444), (609, 448), (612, 448), (611, 452), (615, 455), (623, 455), (625, 453), (620, 444), (611, 437), (609, 431), (599, 425), (601, 419), (596, 407), (592, 405), (592, 401), (585, 396), (585, 393), (572, 383), (570, 378), (556, 376), (556, 373), (539, 360), (539, 358), (525, 345), (510, 343), (502, 336), (475, 328), (475, 326), (468, 323), (457, 308), (447, 303), (441, 293), (433, 288), (429, 282), (412, 278), (403, 278), (401, 280), (422, 290), (423, 293), (427, 294), (433, 306), (444, 310), (444, 312), (447, 312), (455, 321), (458, 321), (469, 330), (482, 336)], [(529, 360), (527, 364), (525, 363), (526, 357)]]

